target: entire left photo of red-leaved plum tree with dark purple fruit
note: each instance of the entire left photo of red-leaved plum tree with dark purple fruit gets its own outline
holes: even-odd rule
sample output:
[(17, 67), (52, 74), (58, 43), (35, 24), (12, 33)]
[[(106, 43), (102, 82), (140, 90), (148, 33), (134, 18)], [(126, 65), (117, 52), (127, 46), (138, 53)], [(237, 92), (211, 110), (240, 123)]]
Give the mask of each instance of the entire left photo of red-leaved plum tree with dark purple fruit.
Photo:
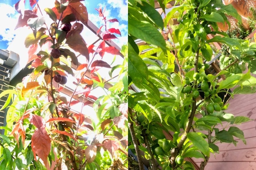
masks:
[(127, 6), (0, 2), (0, 169), (128, 170)]

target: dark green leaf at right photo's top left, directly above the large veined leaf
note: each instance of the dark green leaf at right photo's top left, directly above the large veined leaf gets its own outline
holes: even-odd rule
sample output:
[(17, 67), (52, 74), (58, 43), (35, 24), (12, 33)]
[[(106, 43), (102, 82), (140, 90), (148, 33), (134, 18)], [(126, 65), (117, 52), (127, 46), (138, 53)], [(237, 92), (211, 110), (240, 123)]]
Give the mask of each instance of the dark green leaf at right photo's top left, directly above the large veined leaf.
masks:
[(159, 12), (155, 10), (154, 7), (152, 7), (145, 1), (142, 1), (142, 5), (138, 3), (137, 6), (140, 7), (140, 9), (147, 14), (147, 16), (153, 21), (154, 24), (156, 24), (161, 29), (163, 29), (164, 27), (163, 19), (159, 14)]

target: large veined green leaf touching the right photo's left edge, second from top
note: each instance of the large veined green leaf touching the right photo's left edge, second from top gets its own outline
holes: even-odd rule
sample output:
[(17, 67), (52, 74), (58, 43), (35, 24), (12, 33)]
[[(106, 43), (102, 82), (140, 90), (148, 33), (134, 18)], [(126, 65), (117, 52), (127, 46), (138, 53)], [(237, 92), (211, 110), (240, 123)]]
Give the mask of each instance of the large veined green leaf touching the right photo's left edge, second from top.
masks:
[[(166, 52), (166, 43), (162, 34), (149, 23), (142, 23), (136, 19), (129, 18), (128, 33), (147, 42), (156, 45)], [(130, 48), (129, 48), (130, 49)]]

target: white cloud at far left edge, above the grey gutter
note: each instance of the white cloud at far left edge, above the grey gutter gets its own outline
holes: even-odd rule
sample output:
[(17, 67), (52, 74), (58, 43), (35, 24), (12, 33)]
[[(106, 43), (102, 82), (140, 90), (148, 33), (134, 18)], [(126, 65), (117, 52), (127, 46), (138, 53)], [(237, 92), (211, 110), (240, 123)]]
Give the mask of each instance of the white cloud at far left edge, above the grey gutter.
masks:
[(0, 41), (12, 41), (15, 36), (15, 26), (18, 22), (19, 14), (8, 4), (0, 3), (0, 35), (3, 37)]

